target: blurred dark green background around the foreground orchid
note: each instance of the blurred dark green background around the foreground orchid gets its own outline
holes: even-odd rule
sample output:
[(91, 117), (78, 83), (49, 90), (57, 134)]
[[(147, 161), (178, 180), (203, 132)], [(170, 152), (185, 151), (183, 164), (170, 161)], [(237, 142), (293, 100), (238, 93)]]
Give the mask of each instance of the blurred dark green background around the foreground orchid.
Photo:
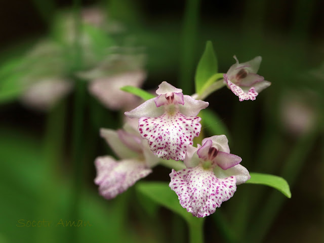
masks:
[[(187, 242), (185, 222), (134, 187), (110, 201), (98, 194), (94, 160), (111, 154), (99, 129), (120, 128), (123, 109), (132, 107), (112, 105), (103, 98), (111, 94), (91, 87), (102, 77), (141, 70), (143, 89), (166, 80), (192, 94), (207, 41), (219, 72), (234, 64), (233, 55), (240, 62), (262, 56), (258, 73), (272, 85), (254, 102), (238, 102), (226, 88), (209, 96), (213, 120), (203, 122), (203, 133), (225, 133), (242, 165), (284, 177), (292, 198), (238, 186), (206, 219), (206, 242), (324, 240), (323, 1), (0, 6), (0, 242)], [(169, 173), (157, 166), (144, 180), (167, 182)], [(19, 220), (43, 223), (19, 227)], [(63, 227), (60, 220), (65, 226), (82, 220), (84, 227)]]

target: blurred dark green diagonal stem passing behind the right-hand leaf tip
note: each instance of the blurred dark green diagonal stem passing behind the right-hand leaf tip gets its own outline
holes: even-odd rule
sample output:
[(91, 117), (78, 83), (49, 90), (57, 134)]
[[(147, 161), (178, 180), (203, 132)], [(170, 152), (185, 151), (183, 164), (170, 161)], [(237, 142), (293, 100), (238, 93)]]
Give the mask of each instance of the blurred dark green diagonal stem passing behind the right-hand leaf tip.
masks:
[[(314, 128), (309, 133), (303, 135), (288, 157), (286, 164), (282, 168), (282, 172), (280, 173), (281, 177), (285, 178), (288, 183), (292, 186), (297, 176), (300, 174), (303, 163), (309, 153), (309, 150), (313, 147), (315, 139), (317, 137), (318, 129)], [(263, 207), (263, 210), (260, 214), (254, 219), (255, 223), (254, 227), (249, 231), (247, 242), (262, 242), (266, 233), (268, 232), (270, 226), (277, 213), (279, 212), (282, 204), (286, 198), (281, 194), (273, 191), (266, 204)]]

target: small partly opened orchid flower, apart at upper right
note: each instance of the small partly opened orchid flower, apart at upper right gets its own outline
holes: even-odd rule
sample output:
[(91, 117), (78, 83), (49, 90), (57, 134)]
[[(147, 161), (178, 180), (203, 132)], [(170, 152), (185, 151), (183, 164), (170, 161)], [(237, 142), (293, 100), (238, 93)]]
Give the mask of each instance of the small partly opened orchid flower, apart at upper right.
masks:
[(271, 85), (264, 80), (263, 76), (257, 74), (262, 58), (260, 56), (245, 62), (233, 64), (224, 74), (224, 83), (238, 96), (239, 101), (255, 100), (257, 95)]

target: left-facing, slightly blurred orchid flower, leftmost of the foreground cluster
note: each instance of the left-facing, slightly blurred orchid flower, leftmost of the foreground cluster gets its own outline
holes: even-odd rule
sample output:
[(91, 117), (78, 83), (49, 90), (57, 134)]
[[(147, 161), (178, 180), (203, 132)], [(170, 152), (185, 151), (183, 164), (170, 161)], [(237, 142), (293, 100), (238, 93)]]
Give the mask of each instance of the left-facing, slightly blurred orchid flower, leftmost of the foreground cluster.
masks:
[(125, 130), (100, 130), (101, 136), (120, 158), (118, 161), (111, 156), (96, 158), (95, 183), (99, 185), (99, 192), (106, 199), (114, 198), (146, 177), (158, 162), (136, 130), (130, 127), (125, 127)]

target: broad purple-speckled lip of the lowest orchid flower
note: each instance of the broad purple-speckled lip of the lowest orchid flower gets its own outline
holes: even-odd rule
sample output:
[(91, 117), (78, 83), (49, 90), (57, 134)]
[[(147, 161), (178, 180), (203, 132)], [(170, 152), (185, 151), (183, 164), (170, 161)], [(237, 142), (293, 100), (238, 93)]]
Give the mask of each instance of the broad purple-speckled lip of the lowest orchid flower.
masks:
[(170, 173), (170, 188), (179, 198), (180, 205), (198, 218), (215, 213), (223, 201), (227, 201), (236, 191), (234, 176), (219, 179), (212, 170), (197, 166)]

